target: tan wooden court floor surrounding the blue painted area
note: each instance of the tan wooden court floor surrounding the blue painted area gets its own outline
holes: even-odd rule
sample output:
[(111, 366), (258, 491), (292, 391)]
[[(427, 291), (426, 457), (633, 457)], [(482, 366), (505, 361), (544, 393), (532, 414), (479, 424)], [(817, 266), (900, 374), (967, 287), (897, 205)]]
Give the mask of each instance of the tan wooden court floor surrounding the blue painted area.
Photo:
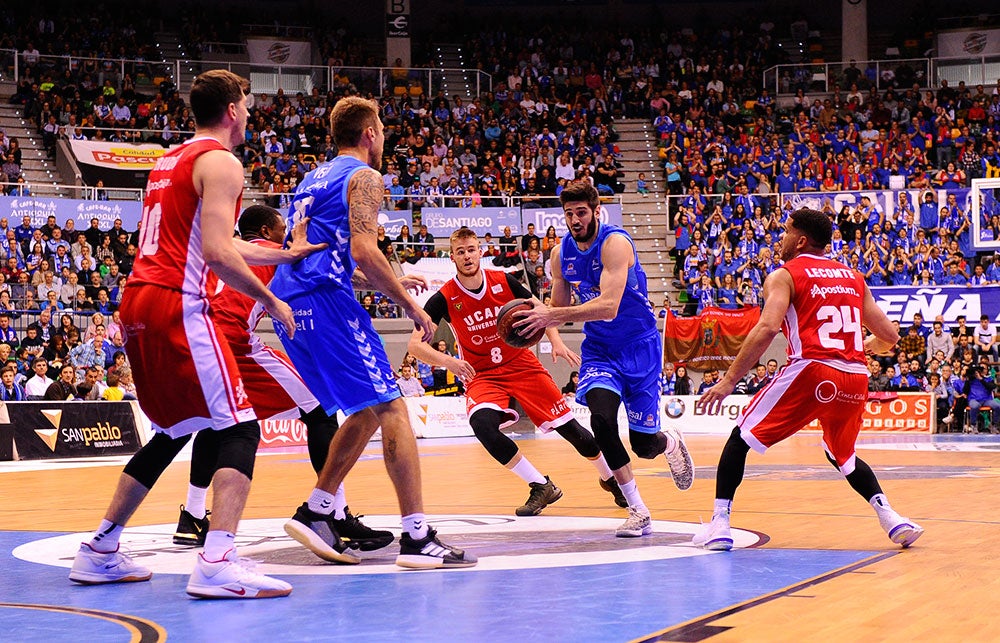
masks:
[[(693, 488), (683, 493), (673, 486), (664, 461), (633, 461), (654, 519), (697, 524), (710, 518), (715, 464), (724, 440), (724, 436), (688, 437), (698, 475)], [(984, 437), (934, 446), (929, 440), (929, 436), (871, 434), (862, 437), (858, 451), (879, 475), (893, 506), (926, 529), (914, 547), (902, 552), (881, 531), (867, 504), (825, 461), (818, 434), (799, 434), (764, 456), (751, 453), (734, 504), (734, 527), (766, 536), (761, 549), (854, 550), (871, 555), (863, 565), (790, 583), (724, 609), (716, 605), (683, 623), (650, 622), (647, 635), (630, 638), (1000, 640), (1000, 557), (994, 549), (1000, 536), (1000, 442)], [(548, 437), (518, 444), (565, 492), (544, 515), (624, 519), (624, 510), (614, 507), (597, 487), (594, 469), (567, 444)], [(420, 450), (428, 514), (512, 514), (527, 497), (525, 485), (475, 442), (422, 440)], [(370, 457), (359, 462), (347, 480), (352, 510), (398, 513), (377, 443), (366, 456)], [(93, 529), (120, 470), (117, 465), (34, 471), (0, 467), (0, 531)], [(186, 481), (187, 463), (175, 462), (131, 524), (176, 521)], [(289, 517), (313, 481), (304, 453), (261, 455), (244, 518)], [(610, 533), (608, 537), (612, 538)], [(9, 550), (0, 555), (0, 567), (10, 563)], [(731, 554), (712, 554), (716, 555)], [(768, 570), (757, 573), (766, 575)], [(718, 581), (694, 577), (686, 582), (702, 586)], [(647, 590), (655, 593), (658, 588), (654, 583)], [(7, 594), (0, 600), (16, 598)], [(3, 618), (0, 611), (0, 621)], [(0, 634), (0, 639), (5, 637)], [(547, 640), (566, 639), (555, 633)]]

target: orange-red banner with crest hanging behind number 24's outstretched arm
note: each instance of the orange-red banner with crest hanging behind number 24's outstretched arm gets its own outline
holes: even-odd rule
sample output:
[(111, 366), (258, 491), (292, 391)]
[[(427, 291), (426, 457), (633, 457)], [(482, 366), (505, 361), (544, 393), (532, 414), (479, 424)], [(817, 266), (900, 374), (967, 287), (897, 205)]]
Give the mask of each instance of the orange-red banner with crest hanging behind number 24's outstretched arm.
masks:
[(664, 361), (684, 362), (698, 371), (729, 368), (759, 319), (760, 308), (756, 306), (739, 310), (709, 307), (695, 317), (677, 317), (667, 311)]

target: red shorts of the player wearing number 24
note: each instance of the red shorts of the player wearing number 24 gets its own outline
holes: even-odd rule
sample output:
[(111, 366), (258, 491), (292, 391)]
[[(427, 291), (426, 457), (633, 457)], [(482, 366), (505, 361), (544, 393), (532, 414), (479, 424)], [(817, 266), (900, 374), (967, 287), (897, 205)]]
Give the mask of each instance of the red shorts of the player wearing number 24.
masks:
[(848, 475), (867, 399), (867, 375), (795, 360), (757, 392), (737, 424), (746, 443), (763, 453), (818, 419), (827, 453)]

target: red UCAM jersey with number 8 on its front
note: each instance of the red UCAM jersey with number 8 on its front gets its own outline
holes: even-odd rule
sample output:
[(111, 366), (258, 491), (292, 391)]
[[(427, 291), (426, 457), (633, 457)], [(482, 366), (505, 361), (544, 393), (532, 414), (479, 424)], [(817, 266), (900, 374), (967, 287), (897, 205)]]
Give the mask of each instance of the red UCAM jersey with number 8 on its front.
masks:
[(497, 335), (497, 312), (504, 304), (516, 299), (507, 285), (507, 274), (499, 270), (483, 270), (483, 288), (469, 292), (455, 277), (439, 291), (448, 307), (448, 320), (458, 340), (459, 357), (472, 365), (476, 373), (499, 368), (517, 372), (525, 361), (537, 363), (534, 353), (526, 348), (514, 348)]

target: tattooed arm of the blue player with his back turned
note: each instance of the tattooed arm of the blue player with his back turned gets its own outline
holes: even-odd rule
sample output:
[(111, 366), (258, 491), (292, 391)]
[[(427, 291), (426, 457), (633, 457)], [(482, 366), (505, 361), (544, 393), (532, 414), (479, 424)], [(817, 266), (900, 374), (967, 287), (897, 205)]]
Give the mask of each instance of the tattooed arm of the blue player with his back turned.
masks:
[(376, 290), (385, 293), (422, 331), (424, 341), (434, 336), (434, 323), (396, 278), (389, 260), (378, 247), (378, 208), (382, 202), (382, 177), (372, 169), (359, 170), (347, 189), (350, 211), (351, 256)]

